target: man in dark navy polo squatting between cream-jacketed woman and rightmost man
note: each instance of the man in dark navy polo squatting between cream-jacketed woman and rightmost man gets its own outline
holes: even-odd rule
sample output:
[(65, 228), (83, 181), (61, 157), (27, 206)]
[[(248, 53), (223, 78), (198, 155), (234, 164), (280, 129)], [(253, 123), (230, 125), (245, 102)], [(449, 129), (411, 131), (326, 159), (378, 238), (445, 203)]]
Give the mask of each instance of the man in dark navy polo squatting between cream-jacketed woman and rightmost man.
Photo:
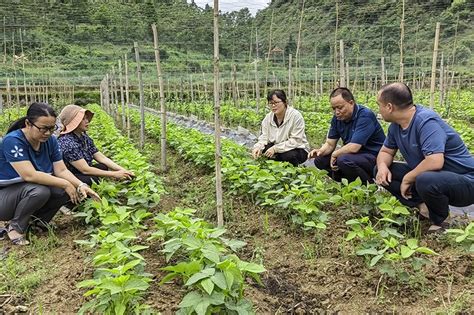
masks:
[[(334, 116), (326, 142), (308, 158), (314, 157), (315, 166), (327, 170), (334, 180), (360, 177), (364, 183), (372, 182), (377, 154), (385, 140), (380, 123), (370, 109), (356, 104), (347, 88), (335, 89), (329, 100)], [(339, 139), (343, 146), (336, 149)]]

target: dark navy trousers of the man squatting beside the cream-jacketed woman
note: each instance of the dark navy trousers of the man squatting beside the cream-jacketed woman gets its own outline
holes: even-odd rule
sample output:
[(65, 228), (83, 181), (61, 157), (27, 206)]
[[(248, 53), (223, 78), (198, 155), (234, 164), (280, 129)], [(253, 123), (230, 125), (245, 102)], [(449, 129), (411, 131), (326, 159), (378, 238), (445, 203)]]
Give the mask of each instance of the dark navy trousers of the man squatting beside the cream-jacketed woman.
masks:
[(331, 169), (331, 155), (317, 156), (314, 159), (314, 165), (320, 170), (328, 171), (329, 176), (338, 182), (342, 178), (352, 182), (360, 177), (363, 183), (372, 183), (372, 172), (376, 161), (377, 158), (370, 153), (348, 153), (336, 159), (337, 171)]

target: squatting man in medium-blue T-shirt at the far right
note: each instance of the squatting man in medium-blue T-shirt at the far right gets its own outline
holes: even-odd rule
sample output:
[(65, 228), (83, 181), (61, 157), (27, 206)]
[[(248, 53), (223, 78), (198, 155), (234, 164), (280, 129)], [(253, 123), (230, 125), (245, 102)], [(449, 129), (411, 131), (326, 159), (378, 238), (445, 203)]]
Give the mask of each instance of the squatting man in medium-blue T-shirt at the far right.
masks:
[[(377, 103), (392, 124), (377, 157), (376, 182), (404, 205), (427, 208), (420, 213), (433, 222), (428, 231), (442, 231), (449, 205), (474, 204), (474, 157), (434, 111), (413, 104), (405, 84), (383, 86)], [(397, 150), (406, 163), (393, 163)]]

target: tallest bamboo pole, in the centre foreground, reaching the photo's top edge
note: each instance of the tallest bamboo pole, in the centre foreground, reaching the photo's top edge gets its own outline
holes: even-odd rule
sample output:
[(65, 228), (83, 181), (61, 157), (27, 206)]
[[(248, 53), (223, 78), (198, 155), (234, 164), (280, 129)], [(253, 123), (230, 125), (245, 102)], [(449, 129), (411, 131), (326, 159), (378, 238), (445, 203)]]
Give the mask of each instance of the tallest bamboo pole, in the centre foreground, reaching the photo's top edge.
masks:
[(219, 0), (214, 0), (214, 136), (216, 145), (217, 226), (224, 225), (221, 174), (221, 123), (219, 100)]

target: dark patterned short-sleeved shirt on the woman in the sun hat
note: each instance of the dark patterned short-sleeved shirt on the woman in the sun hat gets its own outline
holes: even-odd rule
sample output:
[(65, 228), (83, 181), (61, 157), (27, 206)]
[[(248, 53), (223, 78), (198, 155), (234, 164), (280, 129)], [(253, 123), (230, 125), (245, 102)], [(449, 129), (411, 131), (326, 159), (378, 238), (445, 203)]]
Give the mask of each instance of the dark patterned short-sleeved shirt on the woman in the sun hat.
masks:
[(63, 153), (64, 163), (73, 173), (78, 173), (79, 171), (71, 165), (71, 162), (84, 159), (89, 166), (92, 166), (94, 154), (99, 152), (94, 141), (85, 133), (78, 136), (74, 132), (70, 132), (60, 136), (58, 142)]

